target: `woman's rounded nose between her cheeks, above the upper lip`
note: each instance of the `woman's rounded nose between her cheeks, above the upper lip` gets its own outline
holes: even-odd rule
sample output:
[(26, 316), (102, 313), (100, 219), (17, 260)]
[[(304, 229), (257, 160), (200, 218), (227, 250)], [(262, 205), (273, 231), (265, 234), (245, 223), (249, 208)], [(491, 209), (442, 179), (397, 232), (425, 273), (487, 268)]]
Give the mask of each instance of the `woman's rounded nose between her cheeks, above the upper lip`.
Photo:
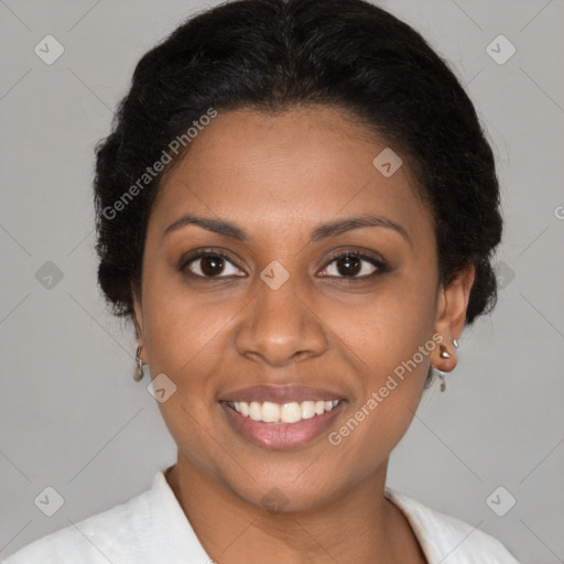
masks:
[[(282, 367), (323, 354), (327, 333), (313, 300), (297, 292), (293, 276), (272, 290), (257, 281), (254, 300), (243, 310), (236, 334), (240, 355)], [(310, 296), (311, 297), (311, 296)]]

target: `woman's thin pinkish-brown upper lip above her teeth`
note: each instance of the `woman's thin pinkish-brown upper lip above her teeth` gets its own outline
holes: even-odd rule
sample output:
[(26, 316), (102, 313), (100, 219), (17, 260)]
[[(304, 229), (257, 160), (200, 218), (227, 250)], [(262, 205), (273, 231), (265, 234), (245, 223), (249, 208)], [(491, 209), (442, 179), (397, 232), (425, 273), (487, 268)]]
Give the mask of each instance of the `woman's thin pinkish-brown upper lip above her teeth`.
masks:
[(291, 401), (302, 402), (306, 400), (324, 400), (334, 401), (341, 400), (338, 393), (322, 390), (321, 388), (312, 388), (302, 384), (272, 386), (260, 384), (249, 388), (241, 388), (232, 392), (228, 392), (219, 401), (270, 401), (272, 403), (288, 403)]

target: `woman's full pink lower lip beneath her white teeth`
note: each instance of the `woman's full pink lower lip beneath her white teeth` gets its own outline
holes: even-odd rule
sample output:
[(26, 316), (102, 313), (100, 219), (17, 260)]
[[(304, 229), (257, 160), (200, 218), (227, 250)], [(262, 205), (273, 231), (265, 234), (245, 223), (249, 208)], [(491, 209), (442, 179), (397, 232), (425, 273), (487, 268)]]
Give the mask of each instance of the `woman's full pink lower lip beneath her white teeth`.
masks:
[(251, 443), (264, 448), (288, 451), (307, 445), (327, 431), (335, 416), (340, 412), (343, 401), (322, 415), (314, 415), (297, 423), (264, 423), (241, 415), (227, 403), (219, 403), (231, 426)]

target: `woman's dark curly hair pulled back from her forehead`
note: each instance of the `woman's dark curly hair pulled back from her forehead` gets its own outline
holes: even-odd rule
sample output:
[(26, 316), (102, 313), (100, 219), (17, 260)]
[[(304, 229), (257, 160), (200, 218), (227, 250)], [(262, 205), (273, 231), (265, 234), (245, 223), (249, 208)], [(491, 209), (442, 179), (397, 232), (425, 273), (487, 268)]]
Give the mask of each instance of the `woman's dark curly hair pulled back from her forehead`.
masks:
[(466, 325), (489, 312), (502, 231), (495, 159), (447, 64), (364, 0), (235, 0), (188, 19), (141, 58), (111, 134), (97, 145), (98, 282), (112, 313), (133, 318), (152, 203), (189, 144), (150, 177), (149, 165), (171, 160), (171, 141), (210, 109), (297, 105), (344, 108), (409, 156), (432, 210), (442, 284), (474, 264)]

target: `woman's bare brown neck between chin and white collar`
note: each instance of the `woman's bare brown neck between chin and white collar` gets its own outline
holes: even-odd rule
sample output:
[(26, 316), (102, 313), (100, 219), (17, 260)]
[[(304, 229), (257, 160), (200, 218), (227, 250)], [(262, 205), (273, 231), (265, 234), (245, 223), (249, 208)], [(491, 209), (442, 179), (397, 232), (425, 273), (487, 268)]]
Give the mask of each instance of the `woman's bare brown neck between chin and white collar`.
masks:
[(386, 470), (387, 464), (340, 497), (292, 512), (241, 499), (181, 454), (166, 479), (204, 550), (218, 563), (424, 564), (408, 520), (384, 497)]

